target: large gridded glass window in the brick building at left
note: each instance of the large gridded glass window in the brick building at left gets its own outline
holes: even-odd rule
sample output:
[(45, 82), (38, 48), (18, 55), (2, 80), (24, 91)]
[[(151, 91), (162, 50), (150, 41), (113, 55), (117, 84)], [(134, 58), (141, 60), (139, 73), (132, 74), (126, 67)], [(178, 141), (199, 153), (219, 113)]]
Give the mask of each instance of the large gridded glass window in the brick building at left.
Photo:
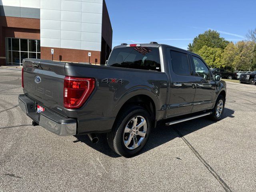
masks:
[(6, 65), (22, 66), (25, 58), (41, 58), (40, 40), (6, 38)]

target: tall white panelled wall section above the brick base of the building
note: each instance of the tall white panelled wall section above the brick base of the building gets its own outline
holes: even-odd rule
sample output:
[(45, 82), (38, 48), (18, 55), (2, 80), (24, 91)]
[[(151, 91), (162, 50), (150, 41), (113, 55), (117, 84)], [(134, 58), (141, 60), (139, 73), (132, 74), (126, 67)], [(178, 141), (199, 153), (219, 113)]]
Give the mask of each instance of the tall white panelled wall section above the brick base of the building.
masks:
[(100, 51), (102, 3), (102, 0), (40, 0), (41, 46)]

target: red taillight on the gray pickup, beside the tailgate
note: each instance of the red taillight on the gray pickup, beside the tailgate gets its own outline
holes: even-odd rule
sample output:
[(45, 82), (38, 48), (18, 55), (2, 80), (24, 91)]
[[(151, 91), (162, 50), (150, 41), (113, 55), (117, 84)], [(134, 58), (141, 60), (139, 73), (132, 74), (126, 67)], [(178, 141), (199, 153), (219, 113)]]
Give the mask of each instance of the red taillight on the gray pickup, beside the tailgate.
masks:
[(94, 78), (66, 76), (64, 79), (64, 107), (68, 109), (82, 107), (94, 88)]

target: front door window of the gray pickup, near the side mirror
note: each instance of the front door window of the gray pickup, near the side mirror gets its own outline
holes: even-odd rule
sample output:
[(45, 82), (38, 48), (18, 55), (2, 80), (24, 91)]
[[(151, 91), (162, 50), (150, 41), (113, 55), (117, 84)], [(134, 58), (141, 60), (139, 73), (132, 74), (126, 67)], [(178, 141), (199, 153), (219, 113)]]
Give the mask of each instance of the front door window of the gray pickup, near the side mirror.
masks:
[(205, 80), (210, 80), (210, 70), (206, 67), (204, 62), (200, 58), (194, 56), (193, 61), (196, 68), (196, 76), (200, 76)]

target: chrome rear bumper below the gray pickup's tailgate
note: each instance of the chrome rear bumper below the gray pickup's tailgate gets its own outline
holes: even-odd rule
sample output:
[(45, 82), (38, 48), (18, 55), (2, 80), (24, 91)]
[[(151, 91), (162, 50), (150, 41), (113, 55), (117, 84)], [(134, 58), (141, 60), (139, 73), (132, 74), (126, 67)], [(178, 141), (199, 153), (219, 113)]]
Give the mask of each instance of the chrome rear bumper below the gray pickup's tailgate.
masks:
[(37, 113), (34, 107), (35, 102), (24, 94), (19, 95), (19, 106), (27, 116), (46, 130), (59, 136), (76, 135), (75, 119), (65, 118), (49, 110)]

